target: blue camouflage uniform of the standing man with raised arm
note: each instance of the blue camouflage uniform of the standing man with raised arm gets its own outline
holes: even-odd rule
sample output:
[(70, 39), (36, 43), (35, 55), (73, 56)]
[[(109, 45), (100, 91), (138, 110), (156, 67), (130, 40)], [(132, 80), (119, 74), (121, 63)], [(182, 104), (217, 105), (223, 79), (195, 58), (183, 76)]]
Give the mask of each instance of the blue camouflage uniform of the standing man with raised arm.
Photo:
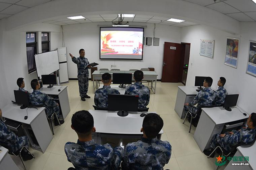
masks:
[(84, 97), (87, 95), (89, 86), (89, 68), (85, 68), (89, 64), (89, 61), (85, 57), (73, 57), (72, 61), (77, 64), (79, 93), (80, 97)]

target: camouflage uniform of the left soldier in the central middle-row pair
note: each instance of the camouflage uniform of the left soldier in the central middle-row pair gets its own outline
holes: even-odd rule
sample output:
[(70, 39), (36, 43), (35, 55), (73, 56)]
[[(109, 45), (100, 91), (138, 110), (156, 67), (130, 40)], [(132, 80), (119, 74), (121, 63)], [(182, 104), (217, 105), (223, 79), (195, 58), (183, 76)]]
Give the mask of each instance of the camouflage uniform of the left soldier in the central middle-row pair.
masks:
[(99, 88), (96, 90), (94, 95), (94, 103), (97, 107), (108, 107), (108, 94), (119, 94), (117, 89), (111, 88), (110, 86), (103, 86), (103, 88)]

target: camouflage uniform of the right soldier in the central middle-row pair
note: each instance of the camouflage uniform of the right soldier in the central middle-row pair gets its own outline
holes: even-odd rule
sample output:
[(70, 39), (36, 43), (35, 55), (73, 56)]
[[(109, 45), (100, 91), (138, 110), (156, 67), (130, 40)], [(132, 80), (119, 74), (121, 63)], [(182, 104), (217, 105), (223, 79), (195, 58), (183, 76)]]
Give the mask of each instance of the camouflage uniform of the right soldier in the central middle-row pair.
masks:
[(138, 108), (145, 108), (149, 104), (150, 91), (142, 82), (135, 82), (126, 87), (125, 95), (139, 95)]

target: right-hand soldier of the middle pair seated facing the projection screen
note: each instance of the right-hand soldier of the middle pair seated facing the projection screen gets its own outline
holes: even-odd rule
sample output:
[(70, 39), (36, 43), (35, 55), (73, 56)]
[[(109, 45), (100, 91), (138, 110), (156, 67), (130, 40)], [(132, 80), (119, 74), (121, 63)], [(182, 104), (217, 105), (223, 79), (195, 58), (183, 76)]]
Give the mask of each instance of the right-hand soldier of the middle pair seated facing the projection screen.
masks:
[(134, 72), (135, 83), (126, 87), (125, 95), (138, 95), (139, 105), (138, 108), (145, 108), (149, 104), (150, 91), (149, 88), (142, 84), (143, 72), (136, 70)]

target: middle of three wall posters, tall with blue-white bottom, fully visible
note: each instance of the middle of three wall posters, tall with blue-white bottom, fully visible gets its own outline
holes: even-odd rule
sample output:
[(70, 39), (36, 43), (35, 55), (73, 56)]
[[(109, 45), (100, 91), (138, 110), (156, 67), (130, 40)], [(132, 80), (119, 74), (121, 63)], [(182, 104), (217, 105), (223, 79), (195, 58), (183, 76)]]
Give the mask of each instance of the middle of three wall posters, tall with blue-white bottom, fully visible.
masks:
[(226, 41), (226, 57), (225, 64), (234, 68), (237, 68), (238, 63), (238, 50), (239, 50), (238, 38), (227, 37)]

